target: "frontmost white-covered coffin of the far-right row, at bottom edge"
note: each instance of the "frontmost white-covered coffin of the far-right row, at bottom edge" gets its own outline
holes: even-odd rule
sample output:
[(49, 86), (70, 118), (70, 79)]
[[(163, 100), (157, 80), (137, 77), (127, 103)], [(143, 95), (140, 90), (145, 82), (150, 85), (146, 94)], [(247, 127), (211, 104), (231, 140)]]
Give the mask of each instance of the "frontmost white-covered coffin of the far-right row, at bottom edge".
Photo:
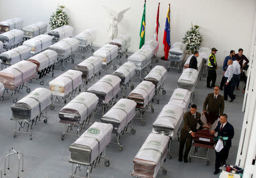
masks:
[(133, 159), (133, 177), (155, 178), (160, 168), (166, 175), (163, 162), (168, 154), (169, 137), (160, 134), (149, 134), (141, 149)]

